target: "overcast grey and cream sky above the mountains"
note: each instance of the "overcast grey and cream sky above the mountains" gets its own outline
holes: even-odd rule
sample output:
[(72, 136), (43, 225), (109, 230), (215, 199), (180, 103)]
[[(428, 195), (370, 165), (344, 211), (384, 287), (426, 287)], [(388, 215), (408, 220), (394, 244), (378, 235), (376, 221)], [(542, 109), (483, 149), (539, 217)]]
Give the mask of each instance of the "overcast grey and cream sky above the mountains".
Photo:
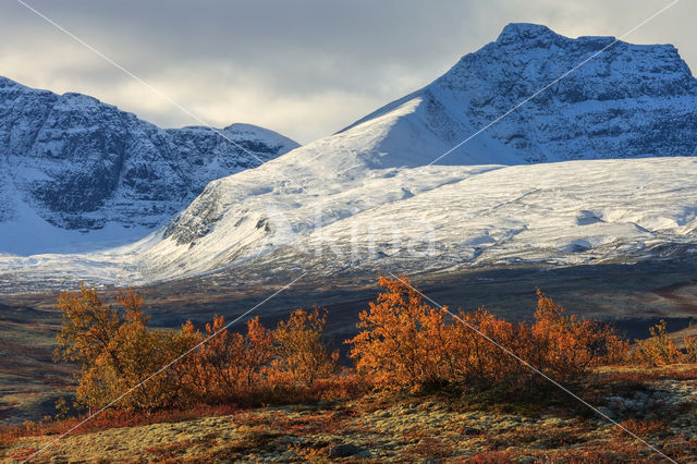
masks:
[[(24, 0), (206, 123), (301, 143), (438, 77), (510, 22), (621, 36), (670, 0)], [(199, 124), (15, 0), (0, 0), (0, 74), (80, 91), (166, 127)], [(697, 2), (631, 36), (697, 69)], [(542, 86), (545, 83), (540, 83)]]

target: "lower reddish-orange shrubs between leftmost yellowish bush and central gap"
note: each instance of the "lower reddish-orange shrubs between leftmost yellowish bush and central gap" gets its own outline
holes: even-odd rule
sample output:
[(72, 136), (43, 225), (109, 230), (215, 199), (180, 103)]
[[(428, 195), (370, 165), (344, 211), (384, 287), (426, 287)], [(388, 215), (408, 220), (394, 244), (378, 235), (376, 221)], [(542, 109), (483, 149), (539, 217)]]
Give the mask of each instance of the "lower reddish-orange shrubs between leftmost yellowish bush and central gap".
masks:
[(339, 354), (321, 341), (326, 320), (319, 308), (296, 309), (276, 330), (266, 329), (258, 317), (249, 319), (245, 334), (228, 331), (222, 316), (216, 316), (205, 333), (187, 322), (183, 332), (197, 342), (207, 339), (182, 363), (188, 396), (246, 404), (306, 398), (318, 380), (337, 369)]

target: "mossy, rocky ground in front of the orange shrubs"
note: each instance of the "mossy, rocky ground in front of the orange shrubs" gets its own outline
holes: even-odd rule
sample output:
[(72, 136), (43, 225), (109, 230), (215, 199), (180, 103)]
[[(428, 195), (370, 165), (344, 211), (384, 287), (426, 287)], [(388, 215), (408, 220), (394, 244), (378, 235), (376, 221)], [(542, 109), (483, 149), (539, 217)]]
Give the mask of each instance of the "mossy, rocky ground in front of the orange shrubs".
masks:
[[(697, 369), (612, 368), (584, 396), (677, 462), (697, 462)], [(570, 396), (489, 393), (359, 400), (69, 436), (35, 462), (668, 462)], [(56, 436), (0, 444), (21, 461)]]

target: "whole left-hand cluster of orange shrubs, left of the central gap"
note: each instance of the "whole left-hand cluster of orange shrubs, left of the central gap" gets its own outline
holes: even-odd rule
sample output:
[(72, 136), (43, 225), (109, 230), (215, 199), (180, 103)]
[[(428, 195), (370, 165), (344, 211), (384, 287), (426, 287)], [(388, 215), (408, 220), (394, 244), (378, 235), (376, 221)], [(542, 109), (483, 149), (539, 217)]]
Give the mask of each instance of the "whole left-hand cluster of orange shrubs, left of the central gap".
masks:
[[(309, 393), (337, 370), (339, 354), (321, 341), (327, 313), (319, 308), (297, 309), (276, 330), (267, 330), (258, 317), (249, 319), (243, 334), (229, 331), (222, 316), (204, 332), (191, 321), (181, 330), (149, 329), (143, 298), (127, 291), (117, 300), (120, 307), (105, 305), (94, 289), (81, 286), (63, 292), (57, 304), (63, 325), (56, 355), (82, 365), (81, 406), (98, 408), (115, 399), (114, 407), (145, 411), (270, 402), (279, 400), (278, 386), (285, 398)], [(186, 358), (172, 363), (184, 353)]]

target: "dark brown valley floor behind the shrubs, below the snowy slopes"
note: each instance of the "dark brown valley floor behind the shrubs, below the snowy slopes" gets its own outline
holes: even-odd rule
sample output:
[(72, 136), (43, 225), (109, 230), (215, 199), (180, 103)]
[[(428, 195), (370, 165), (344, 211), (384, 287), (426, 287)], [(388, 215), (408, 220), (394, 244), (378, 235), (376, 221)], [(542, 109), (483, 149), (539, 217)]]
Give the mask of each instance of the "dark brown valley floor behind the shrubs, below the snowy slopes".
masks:
[[(635, 339), (647, 337), (648, 327), (659, 319), (665, 319), (672, 332), (692, 327), (690, 321), (697, 319), (695, 276), (694, 261), (664, 259), (562, 268), (510, 266), (411, 277), (440, 304), (466, 309), (486, 306), (510, 320), (531, 317), (535, 289), (540, 288), (571, 314), (612, 321)], [(285, 277), (290, 282), (297, 276)], [(242, 285), (242, 278), (229, 270), (137, 290), (146, 298), (146, 312), (155, 327), (179, 328), (188, 319), (201, 327), (216, 314), (232, 320), (282, 286), (272, 282)], [(280, 277), (277, 279), (281, 281)], [(327, 339), (345, 356), (341, 341), (355, 334), (357, 314), (377, 294), (375, 281), (375, 274), (359, 280), (337, 279), (330, 285), (299, 280), (252, 316), (258, 315), (262, 323), (273, 326), (297, 307), (326, 306)], [(110, 302), (118, 292), (106, 288), (102, 293)], [(51, 354), (61, 322), (52, 307), (57, 298), (57, 292), (0, 297), (0, 422), (4, 424), (41, 418), (54, 411), (58, 398), (72, 394), (76, 369), (53, 363)], [(241, 328), (242, 322), (231, 329)], [(350, 363), (345, 357), (342, 362)]]

